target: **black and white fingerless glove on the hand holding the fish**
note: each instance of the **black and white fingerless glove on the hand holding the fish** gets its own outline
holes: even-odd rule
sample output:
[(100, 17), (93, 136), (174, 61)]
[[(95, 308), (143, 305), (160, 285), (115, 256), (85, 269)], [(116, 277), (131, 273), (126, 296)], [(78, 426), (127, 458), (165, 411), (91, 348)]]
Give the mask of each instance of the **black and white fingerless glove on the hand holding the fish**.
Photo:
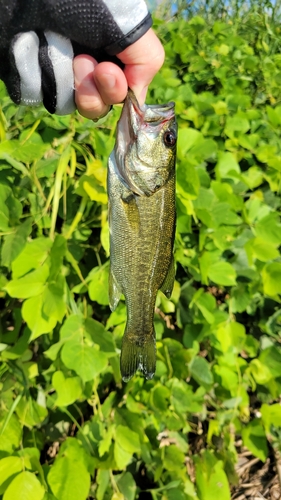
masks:
[(16, 104), (71, 113), (73, 57), (120, 64), (151, 24), (144, 0), (0, 0), (0, 79)]

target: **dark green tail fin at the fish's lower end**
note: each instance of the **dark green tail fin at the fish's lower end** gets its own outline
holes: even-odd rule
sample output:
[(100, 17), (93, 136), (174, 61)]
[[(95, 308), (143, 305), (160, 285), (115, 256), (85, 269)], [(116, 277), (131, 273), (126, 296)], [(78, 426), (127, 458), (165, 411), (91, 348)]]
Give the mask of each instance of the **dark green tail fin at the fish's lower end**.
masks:
[(124, 382), (128, 382), (137, 370), (142, 371), (146, 379), (151, 379), (156, 367), (156, 347), (154, 331), (140, 343), (135, 335), (124, 333), (120, 368)]

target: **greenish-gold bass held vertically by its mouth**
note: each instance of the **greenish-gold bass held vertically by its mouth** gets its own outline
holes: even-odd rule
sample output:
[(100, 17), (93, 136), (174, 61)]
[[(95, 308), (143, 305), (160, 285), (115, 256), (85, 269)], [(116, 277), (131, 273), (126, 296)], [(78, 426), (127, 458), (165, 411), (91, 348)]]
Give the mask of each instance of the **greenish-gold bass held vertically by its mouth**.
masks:
[(158, 290), (170, 298), (175, 267), (174, 103), (140, 106), (128, 90), (108, 161), (109, 305), (125, 297), (127, 323), (120, 370), (128, 382), (137, 370), (156, 368), (154, 310)]

